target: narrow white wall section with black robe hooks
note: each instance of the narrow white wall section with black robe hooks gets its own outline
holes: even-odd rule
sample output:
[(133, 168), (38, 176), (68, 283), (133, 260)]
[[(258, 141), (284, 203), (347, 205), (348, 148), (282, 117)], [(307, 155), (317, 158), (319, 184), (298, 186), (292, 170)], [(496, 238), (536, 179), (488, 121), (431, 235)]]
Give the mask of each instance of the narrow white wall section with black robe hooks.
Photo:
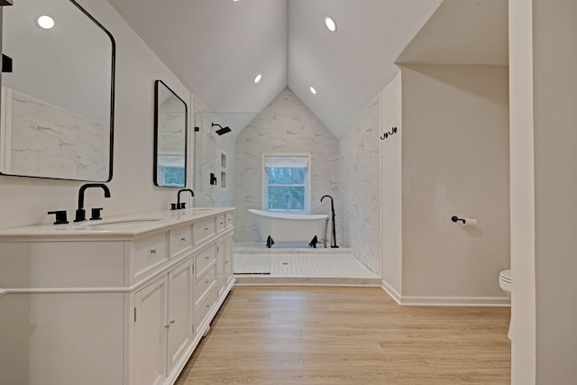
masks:
[[(385, 87), (380, 96), (382, 132), (392, 132), (397, 127), (397, 133), (380, 141), (380, 221), (381, 221), (381, 252), (382, 252), (382, 284), (391, 297), (400, 301), (403, 250), (402, 250), (402, 179), (401, 179), (401, 75), (394, 78)], [(381, 133), (382, 134), (382, 133)]]

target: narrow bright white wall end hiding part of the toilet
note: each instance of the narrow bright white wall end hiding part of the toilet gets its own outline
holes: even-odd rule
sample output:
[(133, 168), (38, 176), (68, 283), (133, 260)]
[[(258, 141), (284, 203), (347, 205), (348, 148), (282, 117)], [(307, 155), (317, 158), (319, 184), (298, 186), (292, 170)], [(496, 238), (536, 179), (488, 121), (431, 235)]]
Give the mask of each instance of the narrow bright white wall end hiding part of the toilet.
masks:
[(525, 0), (509, 0), (508, 6), (511, 270), (514, 282), (511, 382), (528, 385), (536, 383), (533, 15), (530, 2)]

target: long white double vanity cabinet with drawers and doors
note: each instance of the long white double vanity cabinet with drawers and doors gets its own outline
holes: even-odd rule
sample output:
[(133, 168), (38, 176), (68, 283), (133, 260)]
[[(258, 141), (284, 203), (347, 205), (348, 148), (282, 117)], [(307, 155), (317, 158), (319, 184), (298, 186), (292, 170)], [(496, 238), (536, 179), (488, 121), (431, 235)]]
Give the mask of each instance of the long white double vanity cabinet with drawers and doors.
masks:
[(0, 385), (172, 384), (234, 287), (233, 215), (0, 230)]

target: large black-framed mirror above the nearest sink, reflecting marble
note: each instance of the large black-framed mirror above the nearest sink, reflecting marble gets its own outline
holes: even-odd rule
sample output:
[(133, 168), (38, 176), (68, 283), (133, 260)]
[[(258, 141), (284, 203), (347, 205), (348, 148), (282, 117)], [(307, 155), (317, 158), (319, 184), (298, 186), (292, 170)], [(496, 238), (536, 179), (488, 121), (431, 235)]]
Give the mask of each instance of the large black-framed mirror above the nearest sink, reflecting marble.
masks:
[(0, 174), (110, 181), (114, 37), (74, 0), (3, 11)]

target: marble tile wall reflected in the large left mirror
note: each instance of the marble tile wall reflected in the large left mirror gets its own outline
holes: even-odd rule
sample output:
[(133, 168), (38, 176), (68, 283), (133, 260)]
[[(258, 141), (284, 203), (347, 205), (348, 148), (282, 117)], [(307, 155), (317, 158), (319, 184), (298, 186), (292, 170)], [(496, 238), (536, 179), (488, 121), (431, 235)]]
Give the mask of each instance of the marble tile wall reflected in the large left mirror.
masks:
[[(36, 177), (105, 180), (109, 127), (6, 88), (3, 118), (5, 173)], [(54, 122), (58, 122), (55, 124)], [(82, 127), (78, 130), (78, 127)], [(8, 148), (9, 147), (9, 148)]]

